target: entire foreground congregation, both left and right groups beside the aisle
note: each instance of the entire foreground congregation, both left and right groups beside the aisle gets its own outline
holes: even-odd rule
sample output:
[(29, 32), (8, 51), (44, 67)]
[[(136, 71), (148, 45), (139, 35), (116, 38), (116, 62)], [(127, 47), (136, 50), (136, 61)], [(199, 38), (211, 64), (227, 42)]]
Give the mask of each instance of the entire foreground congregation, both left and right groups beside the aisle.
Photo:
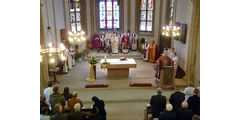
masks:
[[(158, 94), (151, 97), (149, 106), (153, 120), (200, 119), (199, 89), (194, 88), (191, 82), (183, 92), (175, 88), (169, 104), (163, 92), (162, 88), (157, 88)], [(77, 91), (71, 94), (68, 87), (60, 93), (59, 87), (49, 81), (48, 88), (40, 96), (40, 120), (106, 120), (103, 100), (93, 96), (94, 105), (86, 107), (77, 96)]]

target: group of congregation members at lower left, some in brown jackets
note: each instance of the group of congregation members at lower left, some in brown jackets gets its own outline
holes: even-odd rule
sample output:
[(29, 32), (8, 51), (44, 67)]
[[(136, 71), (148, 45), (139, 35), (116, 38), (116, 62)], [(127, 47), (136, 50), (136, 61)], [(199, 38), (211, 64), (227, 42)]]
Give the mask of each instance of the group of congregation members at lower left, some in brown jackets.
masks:
[(40, 120), (106, 120), (103, 100), (93, 96), (94, 105), (86, 107), (77, 97), (77, 91), (71, 94), (65, 87), (60, 93), (60, 88), (49, 81), (48, 88), (40, 96)]

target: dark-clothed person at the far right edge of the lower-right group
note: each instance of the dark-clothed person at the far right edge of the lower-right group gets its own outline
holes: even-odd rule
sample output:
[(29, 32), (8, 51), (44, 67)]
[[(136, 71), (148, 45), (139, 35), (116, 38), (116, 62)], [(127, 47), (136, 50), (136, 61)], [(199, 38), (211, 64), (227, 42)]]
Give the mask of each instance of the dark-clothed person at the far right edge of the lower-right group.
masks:
[(189, 97), (188, 99), (188, 108), (193, 111), (193, 114), (197, 114), (200, 116), (200, 97), (199, 97), (199, 89), (194, 89), (194, 95)]

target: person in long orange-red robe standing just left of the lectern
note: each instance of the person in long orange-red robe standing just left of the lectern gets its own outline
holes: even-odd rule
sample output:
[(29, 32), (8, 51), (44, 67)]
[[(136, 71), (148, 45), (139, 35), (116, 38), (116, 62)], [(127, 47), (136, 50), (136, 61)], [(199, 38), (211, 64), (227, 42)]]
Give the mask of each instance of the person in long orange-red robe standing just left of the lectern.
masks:
[(149, 61), (154, 63), (158, 58), (158, 47), (155, 41), (150, 44), (149, 53)]

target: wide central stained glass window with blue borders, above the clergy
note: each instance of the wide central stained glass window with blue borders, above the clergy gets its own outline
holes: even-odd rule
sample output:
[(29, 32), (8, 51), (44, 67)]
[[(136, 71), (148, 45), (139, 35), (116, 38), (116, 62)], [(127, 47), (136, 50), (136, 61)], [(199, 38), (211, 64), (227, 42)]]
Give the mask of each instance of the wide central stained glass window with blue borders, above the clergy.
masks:
[(100, 29), (119, 29), (119, 5), (117, 0), (99, 1)]

